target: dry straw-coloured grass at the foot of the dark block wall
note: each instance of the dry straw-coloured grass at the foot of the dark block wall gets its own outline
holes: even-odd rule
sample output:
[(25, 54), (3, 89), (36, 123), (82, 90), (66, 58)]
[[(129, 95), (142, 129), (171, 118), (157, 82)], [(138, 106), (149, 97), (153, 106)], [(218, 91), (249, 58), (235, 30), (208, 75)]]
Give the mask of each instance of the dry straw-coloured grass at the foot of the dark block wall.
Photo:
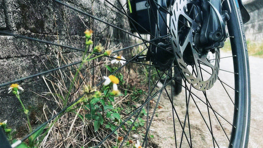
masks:
[[(140, 49), (141, 50), (141, 49)], [(137, 52), (137, 51), (134, 51)], [(58, 54), (58, 62), (60, 65), (69, 64), (70, 60), (67, 60), (63, 57), (62, 54)], [(64, 60), (60, 60), (64, 59)], [(105, 60), (107, 59), (107, 60)], [(85, 65), (83, 69), (79, 72), (76, 81), (74, 82), (74, 89), (71, 93), (69, 99), (70, 102), (75, 101), (81, 94), (82, 88), (84, 85), (94, 86), (100, 82), (103, 78), (103, 75), (108, 75), (105, 64), (109, 64), (110, 59), (103, 58), (99, 60), (94, 60), (90, 65)], [(95, 66), (95, 67), (94, 67)], [(53, 79), (50, 80), (47, 77), (43, 77), (46, 86), (48, 87), (49, 92), (45, 92), (45, 98), (49, 98), (50, 101), (56, 103), (55, 110), (49, 110), (44, 107), (44, 115), (39, 117), (39, 120), (45, 122), (48, 118), (55, 115), (58, 111), (61, 111), (65, 106), (63, 105), (63, 100), (68, 93), (69, 82), (73, 79), (75, 75), (75, 68), (68, 68), (64, 71), (57, 71), (53, 74)], [(114, 108), (122, 108), (119, 113), (122, 116), (122, 120), (127, 117), (127, 111), (132, 111), (134, 107), (140, 104), (138, 100), (140, 98), (131, 98), (134, 95), (134, 92), (137, 89), (146, 91), (147, 87), (145, 86), (145, 67), (138, 65), (129, 65), (128, 68), (123, 68), (121, 74), (125, 83), (122, 87), (119, 87), (120, 91), (125, 96), (120, 96), (115, 98), (113, 102)], [(100, 86), (97, 88), (100, 90)], [(143, 95), (143, 94), (139, 94)], [(140, 97), (140, 96), (137, 97)], [(51, 98), (51, 99), (50, 99)], [(143, 101), (143, 100), (141, 100)], [(128, 104), (128, 106), (127, 106)], [(97, 132), (94, 132), (94, 121), (88, 120), (85, 118), (85, 114), (89, 112), (89, 109), (84, 108), (84, 104), (81, 103), (75, 107), (75, 111), (64, 113), (56, 122), (51, 122), (46, 127), (47, 135), (41, 141), (41, 148), (88, 148), (94, 147), (99, 142), (101, 142), (109, 133), (112, 131), (108, 128), (106, 129), (105, 124), (100, 127)], [(84, 117), (83, 119), (80, 116)], [(50, 127), (54, 123), (52, 127)], [(126, 128), (129, 127), (128, 124), (124, 124)], [(48, 129), (50, 127), (50, 129)], [(138, 129), (140, 131), (140, 129)], [(128, 140), (136, 141), (136, 138), (133, 138), (131, 135), (136, 135), (138, 131), (132, 131), (128, 137)], [(126, 131), (123, 128), (117, 130), (117, 135), (113, 134), (107, 141), (103, 143), (104, 148), (110, 148), (116, 145), (116, 139), (118, 136), (125, 136)], [(132, 145), (131, 145), (132, 147)]]

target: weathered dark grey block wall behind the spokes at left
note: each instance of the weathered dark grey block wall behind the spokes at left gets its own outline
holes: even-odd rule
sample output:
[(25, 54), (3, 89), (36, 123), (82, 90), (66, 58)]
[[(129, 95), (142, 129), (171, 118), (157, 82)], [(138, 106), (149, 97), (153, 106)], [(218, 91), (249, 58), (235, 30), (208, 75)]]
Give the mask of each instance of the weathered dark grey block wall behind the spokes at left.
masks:
[[(115, 26), (128, 26), (124, 16), (105, 0), (62, 1), (106, 22), (113, 22)], [(110, 1), (120, 7), (115, 0)], [(127, 36), (119, 30), (54, 0), (0, 0), (0, 31), (85, 49), (83, 32), (86, 29), (94, 31), (94, 44), (100, 42), (106, 49), (119, 43), (120, 46), (129, 43)], [(79, 61), (81, 55), (82, 52), (73, 49), (0, 34), (0, 84)], [(44, 76), (52, 78), (50, 74)], [(41, 114), (44, 104), (47, 108), (52, 107), (53, 102), (48, 101), (51, 95), (43, 97), (41, 94), (49, 90), (41, 76), (18, 83), (25, 89), (21, 94), (24, 105), (32, 112), (37, 111), (31, 114), (35, 123), (38, 120), (36, 113)], [(15, 96), (7, 93), (8, 87), (0, 87), (0, 122), (7, 119), (11, 127), (25, 129), (25, 124), (21, 123), (25, 123), (26, 116)]]

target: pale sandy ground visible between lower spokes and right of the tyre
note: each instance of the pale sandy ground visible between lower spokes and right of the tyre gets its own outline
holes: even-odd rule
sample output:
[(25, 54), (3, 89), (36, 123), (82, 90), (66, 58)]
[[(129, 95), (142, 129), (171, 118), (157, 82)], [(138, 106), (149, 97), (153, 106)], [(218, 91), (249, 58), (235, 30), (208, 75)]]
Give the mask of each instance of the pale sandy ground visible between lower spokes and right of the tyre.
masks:
[[(227, 56), (227, 53), (223, 53), (223, 56)], [(251, 74), (251, 123), (250, 123), (250, 137), (249, 137), (249, 144), (248, 148), (263, 148), (263, 91), (262, 91), (262, 83), (263, 83), (263, 59), (262, 58), (257, 58), (257, 57), (249, 57), (249, 62), (250, 62), (250, 74)], [(230, 60), (222, 60), (221, 65), (225, 65), (231, 63)], [(232, 68), (229, 67), (229, 70)], [(222, 73), (222, 72), (221, 72)], [(222, 73), (224, 74), (224, 73)], [(222, 77), (222, 75), (221, 75)], [(225, 81), (230, 80), (231, 77), (227, 77)], [(170, 88), (167, 88), (168, 92), (171, 90)], [(183, 91), (184, 93), (184, 91)], [(217, 94), (220, 94), (221, 92), (217, 92)], [(218, 97), (215, 97), (215, 100), (213, 100), (215, 103), (213, 106), (215, 107), (217, 104), (222, 104), (222, 101), (219, 99), (216, 99)], [(182, 100), (183, 98), (179, 96), (176, 97), (175, 101), (176, 103), (175, 108), (179, 109), (177, 112), (179, 116), (184, 116), (185, 114), (185, 109), (184, 106), (185, 104), (180, 103), (184, 102)], [(190, 106), (193, 106), (193, 102), (190, 101), (189, 103)], [(165, 94), (165, 92), (162, 95), (162, 98), (159, 103), (160, 108), (156, 111), (157, 116), (155, 116), (152, 126), (150, 128), (150, 134), (152, 134), (153, 138), (151, 139), (153, 143), (157, 144), (158, 146), (155, 146), (156, 148), (175, 148), (175, 136), (174, 136), (174, 128), (173, 128), (173, 114), (172, 114), (172, 106), (171, 103)], [(215, 107), (216, 108), (216, 107)], [(180, 110), (182, 109), (182, 110)], [(232, 107), (231, 106), (226, 106), (224, 109), (221, 109), (220, 111), (224, 116), (229, 115), (229, 121), (232, 121), (231, 112)], [(190, 111), (189, 116), (197, 116), (198, 111)], [(181, 119), (181, 122), (183, 123), (184, 118)], [(206, 145), (208, 142), (203, 141), (203, 139), (206, 138), (210, 133), (207, 131), (203, 131), (203, 129), (207, 129), (203, 121), (200, 119), (200, 117), (194, 118), (195, 121), (191, 121), (190, 124), (193, 125), (194, 129), (196, 132), (193, 133), (192, 135), (192, 141), (193, 143), (197, 143), (194, 147), (195, 148), (212, 148), (212, 146)], [(202, 123), (201, 125), (199, 123)], [(225, 124), (224, 122), (222, 124)], [(227, 124), (225, 124), (227, 125)], [(224, 126), (225, 126), (224, 125)], [(176, 127), (180, 127), (180, 125), (177, 123)], [(181, 127), (180, 127), (181, 128)], [(214, 132), (220, 131), (220, 127), (215, 127)], [(218, 130), (217, 130), (218, 129)], [(231, 127), (226, 128), (226, 134), (230, 134), (231, 132)], [(177, 138), (180, 139), (182, 131), (178, 131), (176, 134)], [(218, 141), (220, 141), (225, 137), (224, 135), (222, 137), (218, 138)], [(186, 139), (186, 138), (185, 138)], [(182, 148), (185, 148), (187, 146), (187, 141), (183, 139), (183, 145)], [(177, 141), (177, 143), (179, 143)], [(185, 145), (184, 145), (185, 144)], [(219, 144), (220, 148), (227, 148), (227, 145), (224, 145), (224, 142)]]

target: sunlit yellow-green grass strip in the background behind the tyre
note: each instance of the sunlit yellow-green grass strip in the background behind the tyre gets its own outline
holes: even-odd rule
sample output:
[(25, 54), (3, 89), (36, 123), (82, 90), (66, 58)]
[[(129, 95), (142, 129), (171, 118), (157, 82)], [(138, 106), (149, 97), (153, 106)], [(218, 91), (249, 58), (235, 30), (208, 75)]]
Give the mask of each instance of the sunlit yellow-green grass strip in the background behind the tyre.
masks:
[[(263, 58), (263, 42), (247, 40), (248, 55)], [(224, 51), (230, 51), (230, 40), (225, 41), (225, 46), (222, 48)]]

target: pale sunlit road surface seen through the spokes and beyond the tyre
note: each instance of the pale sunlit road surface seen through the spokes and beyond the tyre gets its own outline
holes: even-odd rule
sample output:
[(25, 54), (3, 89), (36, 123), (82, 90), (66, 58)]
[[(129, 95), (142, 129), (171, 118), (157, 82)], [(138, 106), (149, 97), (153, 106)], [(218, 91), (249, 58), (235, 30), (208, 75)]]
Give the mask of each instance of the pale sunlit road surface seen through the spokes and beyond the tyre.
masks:
[[(228, 57), (230, 54), (228, 53), (221, 53), (221, 57)], [(251, 74), (251, 127), (250, 127), (250, 138), (249, 138), (249, 148), (263, 148), (263, 58), (257, 58), (257, 57), (249, 57), (250, 61), (250, 74)], [(220, 62), (221, 68), (226, 71), (233, 72), (233, 67), (232, 67), (232, 59), (231, 58), (224, 58), (221, 59)], [(226, 76), (226, 72), (220, 71), (220, 77), (223, 81), (227, 82), (228, 84), (233, 86), (233, 76)], [(229, 73), (227, 74), (229, 75)], [(233, 74), (231, 74), (233, 75)], [(222, 87), (221, 84), (217, 83), (215, 84), (216, 89), (212, 90), (215, 94), (221, 94), (224, 95), (225, 91), (220, 90), (219, 88)], [(169, 90), (168, 90), (169, 91)], [(211, 91), (211, 90), (210, 90)], [(209, 92), (209, 91), (207, 91)], [(231, 92), (231, 91), (229, 91)], [(197, 93), (196, 93), (197, 94)], [(202, 94), (201, 94), (202, 95)], [(200, 96), (201, 96), (200, 95)], [(213, 94), (212, 94), (213, 95)], [(230, 95), (234, 95), (233, 91), (231, 92)], [(176, 98), (176, 108), (178, 108), (179, 114), (184, 115), (185, 109), (183, 108), (184, 105), (180, 105), (180, 102), (184, 102), (184, 95), (182, 93), (183, 99), (180, 99), (180, 95), (177, 96)], [(228, 103), (223, 103), (223, 101), (227, 101), (227, 99), (223, 100), (222, 98), (227, 98), (227, 96), (222, 96), (221, 99), (218, 97), (218, 95), (215, 98), (209, 98), (213, 99), (211, 103), (213, 103), (213, 107), (216, 108), (218, 105), (220, 109), (216, 109), (216, 111), (221, 112), (224, 116), (232, 116), (232, 109), (233, 106), (228, 102)], [(165, 98), (165, 95), (164, 95)], [(162, 137), (157, 143), (161, 148), (172, 148), (174, 147), (174, 139), (173, 137), (169, 137), (167, 135), (173, 135), (173, 130), (171, 130), (172, 125), (173, 125), (173, 120), (171, 118), (172, 114), (170, 112), (167, 112), (168, 110), (171, 110), (171, 107), (169, 106), (170, 102), (168, 101), (167, 97), (166, 99), (162, 99), (160, 101), (160, 106), (163, 107), (159, 112), (159, 118), (156, 121), (153, 122), (153, 131), (157, 133), (160, 137)], [(224, 106), (220, 106), (220, 105)], [(193, 105), (192, 102), (190, 102), (190, 106)], [(227, 106), (225, 106), (227, 105)], [(229, 106), (228, 106), (229, 105)], [(180, 108), (182, 107), (182, 108)], [(195, 107), (193, 107), (195, 108)], [(181, 110), (180, 110), (181, 109)], [(181, 112), (182, 111), (182, 112)], [(205, 112), (205, 111), (204, 111)], [(191, 110), (191, 117), (194, 116), (199, 116), (198, 111), (193, 111)], [(160, 121), (161, 119), (165, 119), (162, 122)], [(200, 120), (200, 118), (195, 118), (194, 122), (191, 122), (193, 127), (195, 126), (194, 123), (197, 125), (195, 127), (199, 127), (200, 129), (207, 129), (205, 125), (203, 125), (203, 121)], [(230, 117), (227, 118), (230, 120)], [(156, 123), (155, 123), (156, 122)], [(214, 122), (216, 123), (216, 122)], [(227, 125), (227, 124), (226, 124)], [(216, 131), (215, 127), (214, 131)], [(177, 129), (180, 129), (180, 126), (178, 126)], [(165, 131), (165, 132), (163, 132)], [(201, 131), (201, 130), (200, 130)], [(228, 130), (229, 134), (231, 131), (231, 126), (230, 129)], [(194, 134), (194, 133), (193, 133)], [(209, 133), (204, 133), (204, 131), (201, 131), (199, 135), (209, 135)], [(165, 139), (163, 139), (165, 137)], [(198, 136), (196, 136), (198, 137)], [(218, 141), (220, 142), (223, 137), (217, 137)], [(200, 139), (200, 138), (193, 138), (193, 140)], [(202, 143), (202, 142), (200, 142)], [(221, 148), (226, 148), (224, 145), (220, 146)]]

